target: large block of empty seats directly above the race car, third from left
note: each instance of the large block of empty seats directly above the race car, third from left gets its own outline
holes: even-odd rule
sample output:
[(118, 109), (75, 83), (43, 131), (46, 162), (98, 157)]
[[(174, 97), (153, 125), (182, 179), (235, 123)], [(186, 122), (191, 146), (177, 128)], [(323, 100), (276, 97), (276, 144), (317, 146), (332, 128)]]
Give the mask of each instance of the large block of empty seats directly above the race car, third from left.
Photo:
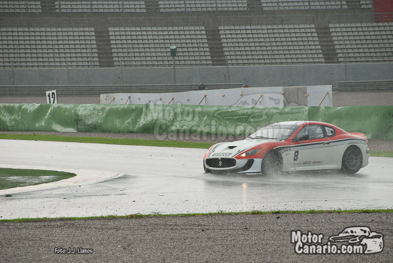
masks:
[[(321, 53), (313, 25), (255, 26), (252, 31), (247, 30), (248, 28), (246, 26), (219, 27), (221, 38), (224, 40), (225, 57), (231, 61), (230, 65), (281, 64), (286, 62), (286, 54), (293, 50), (296, 50), (299, 55), (295, 57), (297, 61), (291, 63), (304, 61), (323, 63), (323, 58), (313, 56), (310, 52), (310, 50), (318, 50)], [(236, 46), (236, 49), (232, 49), (232, 46)], [(264, 56), (249, 55), (260, 51)]]

